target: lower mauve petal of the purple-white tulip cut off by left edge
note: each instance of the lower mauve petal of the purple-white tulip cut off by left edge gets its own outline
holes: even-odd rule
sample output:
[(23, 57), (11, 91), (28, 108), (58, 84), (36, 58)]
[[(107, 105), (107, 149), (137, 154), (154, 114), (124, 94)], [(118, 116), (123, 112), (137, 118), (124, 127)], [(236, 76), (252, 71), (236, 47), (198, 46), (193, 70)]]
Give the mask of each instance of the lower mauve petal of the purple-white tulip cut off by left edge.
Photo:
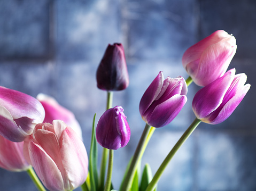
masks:
[(17, 126), (11, 113), (2, 106), (0, 106), (0, 135), (12, 142), (22, 142), (29, 135)]

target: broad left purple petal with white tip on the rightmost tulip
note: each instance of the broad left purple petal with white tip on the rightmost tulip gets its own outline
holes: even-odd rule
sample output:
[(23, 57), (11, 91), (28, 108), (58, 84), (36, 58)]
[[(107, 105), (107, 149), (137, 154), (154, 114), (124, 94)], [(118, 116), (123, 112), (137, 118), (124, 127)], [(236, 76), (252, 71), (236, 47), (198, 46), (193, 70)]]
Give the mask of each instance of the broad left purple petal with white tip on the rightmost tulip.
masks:
[(206, 117), (220, 106), (234, 76), (235, 69), (231, 69), (196, 93), (192, 109), (198, 119)]

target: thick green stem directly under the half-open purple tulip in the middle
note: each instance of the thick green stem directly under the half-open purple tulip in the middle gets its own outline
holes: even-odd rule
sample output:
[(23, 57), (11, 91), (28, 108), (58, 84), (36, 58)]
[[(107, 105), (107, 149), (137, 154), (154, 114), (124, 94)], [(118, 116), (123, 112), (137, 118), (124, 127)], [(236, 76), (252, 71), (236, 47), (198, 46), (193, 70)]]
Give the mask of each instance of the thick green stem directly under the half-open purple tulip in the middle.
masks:
[(145, 145), (146, 138), (148, 137), (149, 132), (150, 132), (150, 127), (151, 126), (149, 126), (149, 124), (146, 124), (144, 131), (142, 132), (141, 139), (139, 139), (139, 143), (138, 143), (135, 153), (133, 155), (133, 159), (131, 160), (130, 168), (127, 172), (125, 180), (123, 181), (122, 187), (120, 188), (120, 190), (122, 190), (122, 191), (128, 191), (131, 187), (131, 183), (132, 183), (133, 177), (135, 175), (138, 161), (141, 158), (143, 146)]

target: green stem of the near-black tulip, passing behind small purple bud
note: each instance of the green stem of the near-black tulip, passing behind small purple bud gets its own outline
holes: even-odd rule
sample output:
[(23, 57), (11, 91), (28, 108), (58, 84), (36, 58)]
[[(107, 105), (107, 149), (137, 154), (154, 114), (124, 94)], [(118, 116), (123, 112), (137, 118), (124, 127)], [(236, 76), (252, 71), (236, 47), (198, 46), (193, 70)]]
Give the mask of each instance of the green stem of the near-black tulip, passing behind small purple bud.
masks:
[[(106, 110), (108, 110), (108, 109), (110, 109), (112, 107), (112, 102), (113, 102), (113, 92), (107, 92)], [(102, 151), (102, 161), (101, 161), (101, 164), (100, 164), (99, 190), (103, 190), (104, 189), (107, 156), (108, 156), (108, 149), (107, 148), (103, 148), (103, 151)]]

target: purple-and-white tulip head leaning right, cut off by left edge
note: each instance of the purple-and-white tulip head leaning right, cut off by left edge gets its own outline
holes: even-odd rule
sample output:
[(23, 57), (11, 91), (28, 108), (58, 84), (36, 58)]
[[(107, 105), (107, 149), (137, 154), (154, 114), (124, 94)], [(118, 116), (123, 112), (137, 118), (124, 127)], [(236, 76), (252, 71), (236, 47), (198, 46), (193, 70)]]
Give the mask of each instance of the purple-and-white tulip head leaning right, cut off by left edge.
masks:
[(22, 142), (44, 120), (44, 108), (34, 97), (0, 86), (0, 135)]

